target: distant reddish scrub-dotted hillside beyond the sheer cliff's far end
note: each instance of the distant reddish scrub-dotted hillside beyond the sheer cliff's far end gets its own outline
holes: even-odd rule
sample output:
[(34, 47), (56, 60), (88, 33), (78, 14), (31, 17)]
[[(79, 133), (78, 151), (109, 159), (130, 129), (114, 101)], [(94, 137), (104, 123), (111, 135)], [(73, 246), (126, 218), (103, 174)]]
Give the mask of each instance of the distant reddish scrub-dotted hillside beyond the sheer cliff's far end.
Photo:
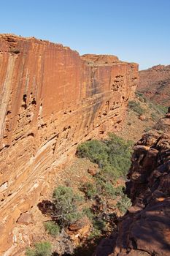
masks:
[(159, 105), (170, 105), (170, 65), (158, 65), (139, 72), (139, 86), (147, 98)]

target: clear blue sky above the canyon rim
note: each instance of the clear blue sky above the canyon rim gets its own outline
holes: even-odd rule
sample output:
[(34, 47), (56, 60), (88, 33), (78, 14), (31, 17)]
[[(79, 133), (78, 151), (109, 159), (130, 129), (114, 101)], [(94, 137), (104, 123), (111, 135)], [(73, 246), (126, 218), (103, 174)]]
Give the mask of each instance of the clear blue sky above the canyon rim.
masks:
[(170, 64), (170, 0), (0, 0), (0, 33), (60, 42), (84, 53)]

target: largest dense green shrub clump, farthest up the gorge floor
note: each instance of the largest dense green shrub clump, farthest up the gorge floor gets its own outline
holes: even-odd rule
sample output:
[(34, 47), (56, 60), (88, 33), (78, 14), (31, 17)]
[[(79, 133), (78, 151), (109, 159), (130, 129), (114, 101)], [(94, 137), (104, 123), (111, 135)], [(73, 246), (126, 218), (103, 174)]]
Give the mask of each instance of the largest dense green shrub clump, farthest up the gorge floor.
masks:
[[(125, 176), (131, 166), (132, 143), (110, 134), (109, 140), (89, 140), (77, 148), (77, 156), (87, 157), (101, 168), (103, 179)], [(106, 178), (104, 178), (106, 176)]]

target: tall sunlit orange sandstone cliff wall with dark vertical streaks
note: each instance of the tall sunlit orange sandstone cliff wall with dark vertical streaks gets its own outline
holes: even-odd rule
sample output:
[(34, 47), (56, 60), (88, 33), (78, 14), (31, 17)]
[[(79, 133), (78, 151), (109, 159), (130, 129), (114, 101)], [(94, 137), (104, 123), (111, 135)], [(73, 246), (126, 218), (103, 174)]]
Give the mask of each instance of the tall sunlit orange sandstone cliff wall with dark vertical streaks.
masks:
[(1, 252), (49, 171), (80, 141), (120, 129), (137, 81), (138, 65), (115, 56), (0, 35)]

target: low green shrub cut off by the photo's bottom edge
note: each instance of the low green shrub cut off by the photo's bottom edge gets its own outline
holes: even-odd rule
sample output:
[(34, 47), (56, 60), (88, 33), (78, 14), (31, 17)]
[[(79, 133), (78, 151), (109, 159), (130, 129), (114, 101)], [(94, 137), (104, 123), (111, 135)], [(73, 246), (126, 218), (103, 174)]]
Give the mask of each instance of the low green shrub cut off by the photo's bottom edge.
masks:
[(51, 254), (51, 244), (47, 241), (36, 243), (34, 249), (26, 249), (26, 256), (50, 256)]

